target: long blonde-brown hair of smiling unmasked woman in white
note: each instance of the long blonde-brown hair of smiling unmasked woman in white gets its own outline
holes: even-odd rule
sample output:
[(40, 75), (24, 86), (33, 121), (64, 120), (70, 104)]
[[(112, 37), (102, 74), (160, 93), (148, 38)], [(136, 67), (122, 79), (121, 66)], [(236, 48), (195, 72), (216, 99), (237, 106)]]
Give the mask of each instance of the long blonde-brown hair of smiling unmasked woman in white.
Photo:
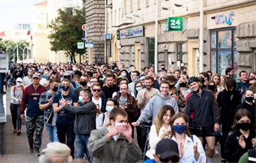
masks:
[[(174, 108), (169, 105), (164, 105), (159, 109), (159, 112), (156, 115), (156, 118), (154, 120), (154, 125), (156, 126), (156, 133), (159, 135), (159, 130), (161, 126), (164, 124), (163, 116), (167, 113), (167, 111), (171, 111), (171, 118), (174, 116)], [(171, 125), (171, 121), (170, 121)]]

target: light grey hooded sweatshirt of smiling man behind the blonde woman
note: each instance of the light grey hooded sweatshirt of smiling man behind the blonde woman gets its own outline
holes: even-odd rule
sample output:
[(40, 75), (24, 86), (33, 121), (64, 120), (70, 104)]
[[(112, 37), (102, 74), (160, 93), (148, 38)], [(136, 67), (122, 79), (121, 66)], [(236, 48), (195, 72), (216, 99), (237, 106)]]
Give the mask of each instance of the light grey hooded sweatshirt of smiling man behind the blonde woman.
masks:
[(170, 94), (168, 94), (166, 97), (162, 97), (161, 93), (157, 93), (156, 96), (152, 97), (149, 100), (149, 103), (146, 104), (146, 107), (142, 111), (142, 114), (141, 116), (139, 116), (137, 122), (143, 123), (146, 120), (149, 120), (149, 118), (151, 117), (152, 122), (154, 122), (154, 119), (156, 118), (159, 109), (161, 108), (161, 106), (164, 105), (172, 106), (174, 108), (175, 113), (178, 113), (178, 104)]

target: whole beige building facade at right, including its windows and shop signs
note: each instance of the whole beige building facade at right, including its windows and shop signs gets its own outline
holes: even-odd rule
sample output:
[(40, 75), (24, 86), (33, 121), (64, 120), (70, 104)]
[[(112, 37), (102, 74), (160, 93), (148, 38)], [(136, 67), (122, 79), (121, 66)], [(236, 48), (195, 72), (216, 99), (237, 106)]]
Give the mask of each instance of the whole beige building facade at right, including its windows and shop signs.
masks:
[[(165, 64), (174, 72), (185, 65), (188, 75), (199, 72), (200, 0), (112, 0), (107, 9), (107, 33), (112, 37), (112, 55), (108, 62), (136, 65), (141, 70)], [(256, 69), (254, 0), (205, 0), (203, 4), (203, 71), (225, 74), (233, 67), (235, 76), (241, 70)], [(178, 17), (181, 22), (168, 21)], [(155, 23), (157, 22), (157, 24)], [(182, 30), (170, 31), (181, 23)], [(119, 35), (116, 35), (119, 33)], [(157, 48), (155, 39), (157, 37)], [(117, 56), (114, 52), (117, 52)]]

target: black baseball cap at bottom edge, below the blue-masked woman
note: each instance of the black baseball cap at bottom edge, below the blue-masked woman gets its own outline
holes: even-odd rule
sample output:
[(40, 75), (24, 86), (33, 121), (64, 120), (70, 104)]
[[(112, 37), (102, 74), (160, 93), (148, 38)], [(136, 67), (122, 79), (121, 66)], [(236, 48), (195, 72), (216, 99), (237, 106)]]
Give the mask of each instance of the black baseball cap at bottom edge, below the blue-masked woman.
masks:
[(156, 145), (156, 154), (160, 155), (161, 160), (169, 159), (169, 157), (176, 157), (176, 162), (178, 162), (178, 145), (174, 140), (169, 138), (163, 139)]

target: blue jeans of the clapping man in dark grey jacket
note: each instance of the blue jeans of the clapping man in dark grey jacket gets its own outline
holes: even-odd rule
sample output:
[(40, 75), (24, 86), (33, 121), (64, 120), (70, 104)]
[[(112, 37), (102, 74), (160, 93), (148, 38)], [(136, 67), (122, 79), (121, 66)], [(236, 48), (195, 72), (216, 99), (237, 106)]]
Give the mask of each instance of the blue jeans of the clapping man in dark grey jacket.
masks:
[(76, 145), (75, 157), (77, 159), (83, 158), (84, 154), (86, 154), (86, 157), (90, 162), (90, 153), (87, 149), (87, 143), (88, 143), (89, 137), (90, 137), (90, 134), (75, 135), (75, 145)]

